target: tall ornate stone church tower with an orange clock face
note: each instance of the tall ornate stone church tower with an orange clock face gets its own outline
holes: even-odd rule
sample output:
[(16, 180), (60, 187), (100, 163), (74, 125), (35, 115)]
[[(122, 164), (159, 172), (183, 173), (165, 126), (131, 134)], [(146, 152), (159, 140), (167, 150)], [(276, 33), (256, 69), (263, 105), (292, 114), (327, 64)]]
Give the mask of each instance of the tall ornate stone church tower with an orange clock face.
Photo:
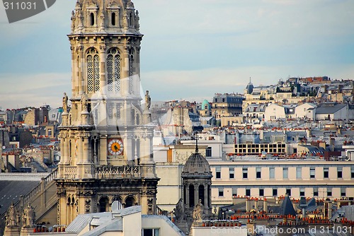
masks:
[[(83, 213), (156, 212), (150, 97), (140, 95), (139, 13), (130, 0), (78, 0), (72, 12), (72, 97), (64, 94), (56, 179), (58, 224)], [(142, 101), (143, 100), (143, 101)]]

